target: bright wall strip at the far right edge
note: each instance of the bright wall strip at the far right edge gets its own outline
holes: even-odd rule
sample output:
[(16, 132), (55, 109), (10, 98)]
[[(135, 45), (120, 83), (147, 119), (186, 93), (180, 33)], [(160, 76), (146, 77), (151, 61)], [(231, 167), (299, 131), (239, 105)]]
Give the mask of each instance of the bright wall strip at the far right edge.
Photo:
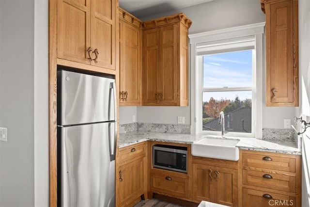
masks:
[[(310, 1), (299, 0), (299, 92), (301, 113), (310, 116)], [(303, 134), (302, 205), (310, 206), (310, 129)], [(308, 137), (309, 138), (308, 138)]]

